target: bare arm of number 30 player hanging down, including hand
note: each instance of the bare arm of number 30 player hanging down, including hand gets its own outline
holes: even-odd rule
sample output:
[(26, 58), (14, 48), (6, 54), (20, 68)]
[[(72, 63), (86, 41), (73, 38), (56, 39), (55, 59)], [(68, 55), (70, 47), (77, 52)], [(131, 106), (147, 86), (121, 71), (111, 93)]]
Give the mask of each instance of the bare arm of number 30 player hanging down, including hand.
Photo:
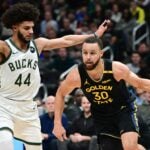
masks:
[(76, 87), (80, 87), (80, 77), (77, 68), (74, 68), (66, 79), (62, 81), (56, 92), (53, 133), (61, 141), (66, 139), (66, 131), (61, 122), (64, 110), (64, 97)]

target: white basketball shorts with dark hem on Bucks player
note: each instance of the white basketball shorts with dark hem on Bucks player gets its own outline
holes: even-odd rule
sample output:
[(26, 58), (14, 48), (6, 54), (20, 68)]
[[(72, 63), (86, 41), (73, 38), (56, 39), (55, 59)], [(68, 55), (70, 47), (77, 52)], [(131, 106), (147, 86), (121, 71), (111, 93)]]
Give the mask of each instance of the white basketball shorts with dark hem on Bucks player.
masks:
[(41, 127), (37, 105), (33, 100), (14, 101), (0, 96), (0, 130), (27, 144), (41, 144)]

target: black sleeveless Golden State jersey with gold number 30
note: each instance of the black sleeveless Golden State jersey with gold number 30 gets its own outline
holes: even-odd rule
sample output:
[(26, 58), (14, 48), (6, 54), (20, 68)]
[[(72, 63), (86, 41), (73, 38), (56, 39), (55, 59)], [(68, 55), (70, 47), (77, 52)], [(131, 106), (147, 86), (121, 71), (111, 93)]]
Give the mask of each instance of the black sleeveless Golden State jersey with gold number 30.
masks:
[(113, 77), (112, 61), (104, 59), (102, 79), (95, 81), (89, 77), (83, 64), (78, 67), (81, 89), (91, 102), (91, 111), (96, 116), (111, 116), (129, 106), (130, 93), (125, 81), (116, 81)]

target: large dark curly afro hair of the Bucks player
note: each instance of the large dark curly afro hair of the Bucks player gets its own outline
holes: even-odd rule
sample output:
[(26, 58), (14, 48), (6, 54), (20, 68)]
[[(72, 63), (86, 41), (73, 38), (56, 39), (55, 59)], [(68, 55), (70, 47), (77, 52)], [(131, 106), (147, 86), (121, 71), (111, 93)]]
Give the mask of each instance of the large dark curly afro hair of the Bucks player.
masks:
[(12, 28), (13, 25), (23, 21), (36, 22), (40, 12), (30, 3), (17, 3), (12, 5), (2, 16), (2, 22), (7, 28)]

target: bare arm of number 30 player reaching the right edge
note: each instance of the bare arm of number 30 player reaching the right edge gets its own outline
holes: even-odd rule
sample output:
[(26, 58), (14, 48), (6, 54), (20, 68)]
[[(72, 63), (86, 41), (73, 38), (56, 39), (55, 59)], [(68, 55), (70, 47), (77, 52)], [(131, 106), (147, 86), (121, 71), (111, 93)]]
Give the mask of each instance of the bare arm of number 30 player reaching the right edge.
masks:
[(116, 80), (119, 81), (123, 79), (135, 88), (140, 88), (144, 91), (150, 92), (150, 80), (140, 78), (135, 73), (130, 71), (130, 69), (125, 64), (114, 62), (113, 73)]

